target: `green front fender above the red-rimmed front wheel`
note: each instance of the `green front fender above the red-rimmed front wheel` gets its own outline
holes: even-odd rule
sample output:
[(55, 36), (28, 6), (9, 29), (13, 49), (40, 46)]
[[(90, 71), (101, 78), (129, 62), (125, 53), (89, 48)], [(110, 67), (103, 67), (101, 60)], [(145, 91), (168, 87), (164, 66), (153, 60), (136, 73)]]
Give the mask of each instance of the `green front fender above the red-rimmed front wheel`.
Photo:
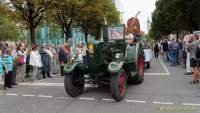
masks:
[(111, 62), (108, 65), (108, 72), (110, 72), (111, 74), (118, 73), (121, 70), (121, 68), (123, 68), (123, 65), (124, 65), (123, 61), (121, 61), (121, 62)]

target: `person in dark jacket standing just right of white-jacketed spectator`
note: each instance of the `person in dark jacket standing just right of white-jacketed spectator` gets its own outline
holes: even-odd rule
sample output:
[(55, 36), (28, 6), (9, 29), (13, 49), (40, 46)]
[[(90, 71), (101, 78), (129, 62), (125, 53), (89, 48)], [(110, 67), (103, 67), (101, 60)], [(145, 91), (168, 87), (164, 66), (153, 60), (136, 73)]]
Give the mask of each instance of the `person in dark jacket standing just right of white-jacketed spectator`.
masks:
[(47, 74), (47, 77), (52, 78), (50, 75), (50, 70), (51, 70), (51, 58), (48, 53), (46, 45), (42, 45), (42, 48), (40, 50), (40, 55), (41, 55), (41, 60), (42, 60), (42, 70), (43, 70), (43, 78), (45, 79)]

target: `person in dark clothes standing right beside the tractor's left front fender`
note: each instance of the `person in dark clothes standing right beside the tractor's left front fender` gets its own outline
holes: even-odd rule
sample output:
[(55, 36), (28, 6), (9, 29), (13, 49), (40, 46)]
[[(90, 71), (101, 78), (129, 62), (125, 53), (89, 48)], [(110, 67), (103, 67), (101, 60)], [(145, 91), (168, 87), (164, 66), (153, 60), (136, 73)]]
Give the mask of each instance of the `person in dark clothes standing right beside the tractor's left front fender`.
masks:
[(64, 64), (67, 64), (67, 60), (68, 60), (67, 57), (68, 57), (68, 51), (65, 45), (60, 46), (59, 61), (60, 61), (61, 76), (64, 76), (63, 68), (64, 68)]

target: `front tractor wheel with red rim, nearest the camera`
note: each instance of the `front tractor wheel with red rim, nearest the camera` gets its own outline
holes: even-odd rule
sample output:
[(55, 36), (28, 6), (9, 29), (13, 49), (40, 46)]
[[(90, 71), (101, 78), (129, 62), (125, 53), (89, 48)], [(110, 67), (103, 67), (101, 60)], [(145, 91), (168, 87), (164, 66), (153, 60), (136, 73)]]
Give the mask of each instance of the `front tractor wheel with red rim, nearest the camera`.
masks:
[(111, 76), (110, 90), (112, 97), (117, 102), (124, 99), (127, 91), (127, 76), (124, 69), (121, 69), (120, 72)]

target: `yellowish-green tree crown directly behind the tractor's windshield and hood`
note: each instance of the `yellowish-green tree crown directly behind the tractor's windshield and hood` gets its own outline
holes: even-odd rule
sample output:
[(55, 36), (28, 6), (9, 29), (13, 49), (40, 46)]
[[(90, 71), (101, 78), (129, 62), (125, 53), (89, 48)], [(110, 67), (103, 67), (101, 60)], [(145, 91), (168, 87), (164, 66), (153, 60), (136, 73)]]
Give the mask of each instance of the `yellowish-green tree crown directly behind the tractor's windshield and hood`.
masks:
[(108, 25), (119, 24), (119, 12), (111, 0), (84, 0), (83, 4), (77, 21), (85, 33), (86, 40), (89, 33), (98, 38), (105, 21)]

